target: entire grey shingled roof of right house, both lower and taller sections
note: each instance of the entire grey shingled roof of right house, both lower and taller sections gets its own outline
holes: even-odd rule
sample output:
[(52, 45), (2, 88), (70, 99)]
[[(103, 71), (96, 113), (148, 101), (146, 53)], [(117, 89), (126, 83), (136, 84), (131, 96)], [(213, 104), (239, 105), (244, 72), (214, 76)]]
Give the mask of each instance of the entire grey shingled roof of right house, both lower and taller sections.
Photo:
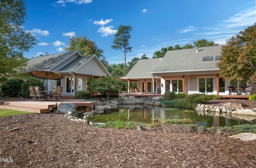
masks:
[[(216, 67), (218, 60), (215, 60), (215, 57), (221, 55), (221, 48), (222, 45), (200, 47), (199, 52), (196, 52), (196, 48), (179, 49), (167, 51), (163, 58), (140, 59), (124, 78), (148, 78), (152, 77), (151, 74), (177, 75), (180, 72), (185, 75), (191, 72), (218, 71)], [(203, 57), (212, 57), (212, 60), (202, 61)]]

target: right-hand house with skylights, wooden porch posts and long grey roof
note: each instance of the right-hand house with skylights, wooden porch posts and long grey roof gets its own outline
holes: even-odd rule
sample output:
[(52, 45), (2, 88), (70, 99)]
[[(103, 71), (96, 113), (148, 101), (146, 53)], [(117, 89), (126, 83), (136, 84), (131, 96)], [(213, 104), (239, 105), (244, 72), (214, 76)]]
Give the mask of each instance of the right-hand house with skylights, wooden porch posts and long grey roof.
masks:
[(140, 59), (123, 78), (128, 82), (136, 80), (137, 87), (144, 94), (154, 94), (158, 86), (161, 94), (173, 91), (188, 95), (228, 95), (228, 86), (246, 85), (254, 85), (252, 94), (255, 94), (255, 84), (227, 81), (220, 75), (216, 63), (221, 56), (221, 48), (222, 45), (216, 45), (172, 50), (162, 58)]

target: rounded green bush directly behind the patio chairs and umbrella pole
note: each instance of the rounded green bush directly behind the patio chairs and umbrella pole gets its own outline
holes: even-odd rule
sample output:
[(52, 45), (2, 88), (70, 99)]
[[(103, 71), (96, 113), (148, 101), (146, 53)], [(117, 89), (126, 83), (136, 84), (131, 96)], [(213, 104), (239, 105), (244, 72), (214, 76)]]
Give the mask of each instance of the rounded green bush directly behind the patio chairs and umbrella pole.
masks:
[(44, 84), (40, 80), (36, 79), (35, 77), (29, 77), (21, 85), (21, 94), (26, 98), (29, 98), (28, 86), (39, 86), (41, 91), (44, 90)]

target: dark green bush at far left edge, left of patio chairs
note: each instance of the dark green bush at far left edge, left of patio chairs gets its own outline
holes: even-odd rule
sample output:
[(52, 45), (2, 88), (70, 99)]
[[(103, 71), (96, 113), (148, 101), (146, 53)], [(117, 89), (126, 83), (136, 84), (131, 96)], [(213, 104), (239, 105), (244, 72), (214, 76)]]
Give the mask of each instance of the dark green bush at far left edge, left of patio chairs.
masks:
[(21, 85), (23, 81), (24, 81), (23, 79), (19, 79), (19, 78), (7, 79), (1, 86), (2, 96), (3, 97), (20, 97)]

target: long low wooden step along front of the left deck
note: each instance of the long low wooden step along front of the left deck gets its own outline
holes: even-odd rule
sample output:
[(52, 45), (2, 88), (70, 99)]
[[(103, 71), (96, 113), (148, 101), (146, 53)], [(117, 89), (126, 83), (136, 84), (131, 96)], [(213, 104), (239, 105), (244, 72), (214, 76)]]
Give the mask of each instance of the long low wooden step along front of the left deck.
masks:
[(18, 111), (27, 111), (32, 113), (49, 113), (49, 109), (42, 109), (36, 107), (22, 107), (15, 105), (1, 105), (1, 109), (10, 109), (10, 110), (18, 110)]

